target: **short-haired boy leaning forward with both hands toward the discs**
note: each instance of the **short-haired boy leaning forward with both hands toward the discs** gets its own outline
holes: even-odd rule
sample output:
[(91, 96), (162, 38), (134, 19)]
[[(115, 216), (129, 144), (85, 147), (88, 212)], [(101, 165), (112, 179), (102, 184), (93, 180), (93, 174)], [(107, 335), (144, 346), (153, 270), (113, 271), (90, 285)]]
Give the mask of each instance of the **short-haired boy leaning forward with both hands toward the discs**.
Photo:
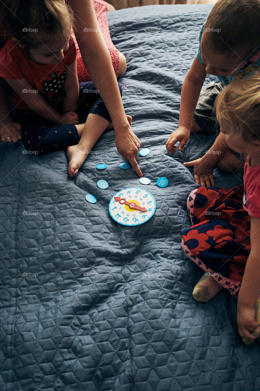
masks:
[[(182, 151), (191, 131), (212, 131), (215, 125), (212, 108), (217, 94), (229, 83), (260, 68), (259, 26), (259, 0), (219, 0), (214, 5), (199, 33), (198, 52), (183, 83), (179, 127), (166, 142), (169, 153), (175, 152), (178, 141), (178, 149)], [(213, 81), (201, 91), (207, 74), (217, 75), (221, 83)], [(217, 145), (219, 152), (221, 140)], [(185, 167), (194, 166), (196, 183), (214, 185), (215, 164), (224, 171), (239, 170), (244, 165), (232, 149), (224, 151), (218, 162), (215, 157), (208, 153), (201, 159), (184, 163)]]

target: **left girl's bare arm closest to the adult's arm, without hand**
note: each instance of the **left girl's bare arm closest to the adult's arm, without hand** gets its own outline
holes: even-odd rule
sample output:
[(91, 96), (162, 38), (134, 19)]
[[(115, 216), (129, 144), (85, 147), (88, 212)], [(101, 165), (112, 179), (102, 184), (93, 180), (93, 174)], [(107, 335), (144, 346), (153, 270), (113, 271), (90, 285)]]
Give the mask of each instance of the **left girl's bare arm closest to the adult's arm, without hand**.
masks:
[(66, 79), (64, 83), (66, 97), (62, 99), (63, 113), (75, 111), (78, 102), (78, 76), (77, 76), (77, 59), (69, 66), (66, 66)]

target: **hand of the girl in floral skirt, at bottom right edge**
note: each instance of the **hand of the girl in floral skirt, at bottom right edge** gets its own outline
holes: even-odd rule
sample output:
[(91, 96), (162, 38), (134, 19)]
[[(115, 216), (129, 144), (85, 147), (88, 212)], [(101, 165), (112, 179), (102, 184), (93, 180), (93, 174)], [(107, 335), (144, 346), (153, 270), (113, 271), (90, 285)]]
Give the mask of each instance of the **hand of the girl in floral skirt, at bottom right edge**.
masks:
[(251, 334), (258, 326), (258, 319), (255, 316), (255, 308), (237, 306), (237, 325), (239, 335), (244, 339), (256, 339)]

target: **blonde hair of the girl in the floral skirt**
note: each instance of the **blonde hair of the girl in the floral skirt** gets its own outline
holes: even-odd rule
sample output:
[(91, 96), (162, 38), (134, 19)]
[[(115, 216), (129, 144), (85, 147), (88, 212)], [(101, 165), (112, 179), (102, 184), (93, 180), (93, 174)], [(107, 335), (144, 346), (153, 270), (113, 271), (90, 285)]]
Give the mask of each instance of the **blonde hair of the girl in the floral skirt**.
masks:
[(238, 131), (245, 141), (260, 138), (260, 72), (233, 81), (215, 100), (217, 121)]

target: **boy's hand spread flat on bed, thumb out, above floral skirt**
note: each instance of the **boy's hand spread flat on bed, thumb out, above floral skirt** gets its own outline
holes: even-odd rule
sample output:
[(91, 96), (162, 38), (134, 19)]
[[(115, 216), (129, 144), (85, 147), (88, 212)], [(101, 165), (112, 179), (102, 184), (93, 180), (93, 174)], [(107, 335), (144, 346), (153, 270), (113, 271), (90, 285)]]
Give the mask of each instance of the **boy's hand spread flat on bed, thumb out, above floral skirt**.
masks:
[(210, 165), (203, 158), (187, 161), (183, 163), (185, 167), (194, 167), (193, 176), (195, 182), (203, 187), (215, 185), (213, 169), (214, 165)]

